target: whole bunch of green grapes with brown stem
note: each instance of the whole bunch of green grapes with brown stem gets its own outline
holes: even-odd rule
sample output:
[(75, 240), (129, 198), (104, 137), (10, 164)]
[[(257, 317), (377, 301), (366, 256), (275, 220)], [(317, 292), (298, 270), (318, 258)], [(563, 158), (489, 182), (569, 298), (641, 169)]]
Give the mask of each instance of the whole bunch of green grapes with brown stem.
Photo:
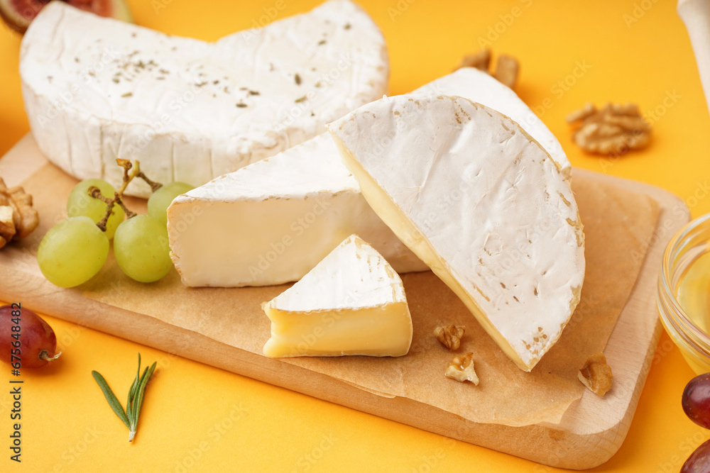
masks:
[[(37, 262), (53, 284), (74, 287), (92, 279), (104, 266), (113, 240), (114, 256), (121, 270), (138, 282), (165, 277), (173, 262), (168, 245), (170, 203), (192, 189), (190, 184), (152, 182), (140, 172), (140, 163), (116, 160), (124, 168), (124, 182), (116, 190), (102, 179), (79, 182), (67, 198), (67, 218), (50, 228), (40, 242)], [(148, 215), (136, 215), (122, 196), (135, 177), (153, 190)]]

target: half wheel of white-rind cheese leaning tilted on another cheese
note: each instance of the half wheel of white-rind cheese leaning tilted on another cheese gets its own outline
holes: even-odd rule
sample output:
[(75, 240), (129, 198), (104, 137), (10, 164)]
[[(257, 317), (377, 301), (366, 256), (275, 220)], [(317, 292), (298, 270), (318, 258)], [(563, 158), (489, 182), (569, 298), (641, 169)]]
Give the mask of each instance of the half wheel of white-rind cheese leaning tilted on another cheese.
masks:
[(328, 128), (373, 210), (530, 371), (584, 279), (558, 163), (518, 123), (457, 96), (385, 97)]

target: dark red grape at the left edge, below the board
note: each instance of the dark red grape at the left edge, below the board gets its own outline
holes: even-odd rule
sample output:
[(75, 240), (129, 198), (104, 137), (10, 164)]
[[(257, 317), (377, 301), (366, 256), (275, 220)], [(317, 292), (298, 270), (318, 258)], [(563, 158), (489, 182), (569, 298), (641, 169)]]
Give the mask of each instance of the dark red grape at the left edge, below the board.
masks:
[(56, 350), (54, 330), (40, 316), (16, 305), (0, 307), (0, 360), (13, 365), (19, 357), (17, 367), (38, 368), (58, 357)]

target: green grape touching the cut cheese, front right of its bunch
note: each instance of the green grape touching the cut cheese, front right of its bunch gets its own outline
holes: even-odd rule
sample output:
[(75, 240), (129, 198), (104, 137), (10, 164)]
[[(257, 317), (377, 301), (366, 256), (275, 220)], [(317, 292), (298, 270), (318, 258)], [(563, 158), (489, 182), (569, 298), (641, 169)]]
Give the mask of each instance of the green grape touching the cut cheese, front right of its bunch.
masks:
[(114, 255), (124, 272), (139, 282), (153, 282), (173, 267), (168, 245), (168, 229), (155, 218), (138, 215), (116, 229)]

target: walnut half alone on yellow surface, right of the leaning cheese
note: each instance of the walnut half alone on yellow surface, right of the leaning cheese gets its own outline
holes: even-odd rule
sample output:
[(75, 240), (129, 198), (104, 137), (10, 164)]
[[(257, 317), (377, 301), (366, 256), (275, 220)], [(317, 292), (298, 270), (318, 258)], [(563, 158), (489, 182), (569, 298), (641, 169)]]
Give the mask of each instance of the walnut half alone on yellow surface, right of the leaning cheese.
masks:
[(600, 155), (624, 155), (643, 148), (651, 137), (651, 126), (635, 104), (593, 104), (570, 113), (567, 123), (577, 127), (572, 139), (588, 152)]

